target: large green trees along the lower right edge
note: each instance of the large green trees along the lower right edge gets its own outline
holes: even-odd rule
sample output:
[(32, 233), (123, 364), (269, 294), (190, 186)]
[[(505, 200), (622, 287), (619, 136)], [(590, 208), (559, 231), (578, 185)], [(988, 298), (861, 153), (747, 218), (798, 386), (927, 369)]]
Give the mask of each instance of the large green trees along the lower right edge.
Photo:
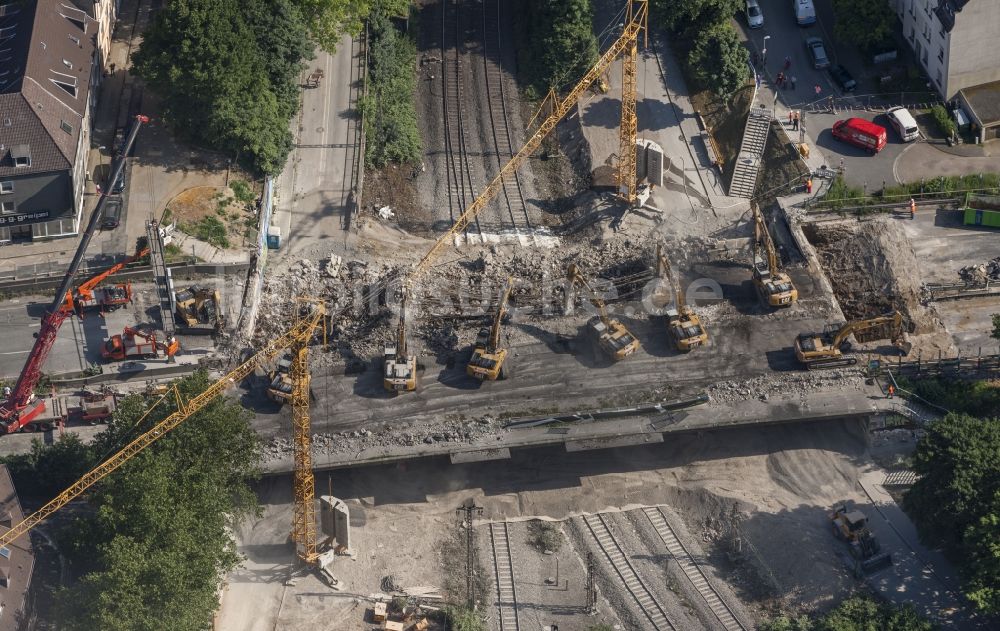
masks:
[(932, 423), (913, 468), (903, 507), (921, 539), (956, 560), (977, 608), (1000, 613), (1000, 417), (951, 413)]

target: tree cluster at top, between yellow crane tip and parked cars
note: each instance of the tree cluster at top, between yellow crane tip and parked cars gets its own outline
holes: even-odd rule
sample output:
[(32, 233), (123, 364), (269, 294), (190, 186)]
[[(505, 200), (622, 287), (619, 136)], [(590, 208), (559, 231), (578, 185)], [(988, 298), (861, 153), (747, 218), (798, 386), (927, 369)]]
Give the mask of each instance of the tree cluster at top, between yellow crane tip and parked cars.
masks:
[(719, 96), (746, 85), (749, 54), (732, 25), (741, 0), (652, 0), (650, 20), (670, 33), (676, 50), (690, 51), (688, 74)]

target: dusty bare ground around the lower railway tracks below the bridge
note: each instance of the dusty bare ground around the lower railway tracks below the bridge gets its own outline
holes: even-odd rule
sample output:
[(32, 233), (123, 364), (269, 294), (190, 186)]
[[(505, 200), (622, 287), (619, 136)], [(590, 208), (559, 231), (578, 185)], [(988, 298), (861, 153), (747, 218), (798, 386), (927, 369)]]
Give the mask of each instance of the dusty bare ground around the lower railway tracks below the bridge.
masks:
[[(484, 507), (484, 520), (571, 520), (563, 525), (568, 543), (558, 554), (561, 589), (544, 584), (555, 574), (554, 558), (527, 542), (525, 526), (512, 525), (522, 625), (585, 619), (577, 616), (585, 602), (583, 568), (590, 544), (576, 534), (579, 522), (573, 517), (617, 507), (668, 505), (682, 541), (694, 554), (704, 550), (700, 558), (713, 582), (724, 594), (731, 589), (749, 616), (775, 606), (822, 607), (854, 588), (837, 559), (825, 511), (844, 499), (862, 499), (856, 479), (870, 457), (857, 424), (727, 430), (595, 455), (539, 450), (511, 462), (420, 461), (320, 476), (318, 489), (332, 489), (352, 510), (356, 555), (335, 563), (334, 572), (345, 581), (340, 593), (312, 577), (284, 585), (291, 567), (285, 543), (291, 483), (287, 477), (269, 478), (261, 487), (264, 516), (237, 533), (248, 561), (230, 577), (219, 628), (364, 629), (364, 597), (379, 591), (388, 575), (399, 586), (464, 589), (464, 559), (449, 541), (461, 532), (455, 510), (470, 498)], [(692, 605), (694, 596), (683, 581), (676, 576), (664, 581), (655, 556), (664, 552), (641, 519), (622, 514), (611, 520), (637, 571), (658, 585), (658, 597), (678, 619), (688, 621), (684, 628), (714, 628)], [(481, 571), (489, 573), (492, 559), (483, 554), (488, 527), (476, 531)], [(741, 554), (733, 554), (737, 538)], [(790, 541), (796, 542), (794, 555), (788, 554)], [(457, 582), (449, 578), (456, 572)], [(488, 585), (484, 607), (492, 612), (494, 592)], [(618, 597), (600, 581), (599, 588), (599, 615), (587, 619), (628, 619)]]

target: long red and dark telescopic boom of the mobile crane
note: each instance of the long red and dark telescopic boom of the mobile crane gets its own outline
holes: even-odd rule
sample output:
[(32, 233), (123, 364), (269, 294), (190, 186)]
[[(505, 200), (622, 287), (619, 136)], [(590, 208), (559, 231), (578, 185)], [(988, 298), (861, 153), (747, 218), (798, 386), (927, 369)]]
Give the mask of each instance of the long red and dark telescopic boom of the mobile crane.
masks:
[[(139, 133), (139, 128), (148, 122), (149, 118), (146, 116), (139, 115), (135, 117), (128, 135), (125, 137), (125, 142), (122, 144), (122, 150), (112, 164), (109, 182), (118, 181), (118, 177), (125, 168), (125, 158), (135, 143), (135, 137)], [(108, 188), (110, 189), (111, 187)], [(42, 316), (42, 326), (35, 336), (35, 344), (28, 354), (28, 359), (24, 362), (24, 368), (21, 370), (21, 375), (17, 378), (17, 384), (14, 386), (11, 394), (0, 403), (0, 432), (2, 433), (10, 434), (20, 430), (45, 411), (45, 401), (35, 399), (35, 386), (38, 385), (38, 380), (42, 376), (42, 365), (52, 350), (52, 345), (55, 344), (56, 336), (59, 334), (59, 327), (73, 313), (72, 310), (67, 311), (64, 309), (63, 305), (65, 304), (67, 294), (73, 288), (73, 281), (76, 278), (77, 270), (80, 269), (80, 262), (87, 252), (87, 246), (90, 245), (90, 240), (94, 236), (94, 232), (97, 231), (97, 227), (101, 224), (101, 216), (104, 214), (104, 206), (107, 203), (110, 192), (110, 190), (102, 190), (100, 192), (97, 207), (94, 208), (94, 213), (90, 216), (90, 222), (87, 224), (86, 230), (80, 235), (80, 245), (76, 248), (73, 261), (70, 263), (69, 269), (66, 270), (66, 275), (63, 277), (63, 282), (59, 286), (59, 290), (56, 291), (55, 299), (45, 312), (45, 315)]]

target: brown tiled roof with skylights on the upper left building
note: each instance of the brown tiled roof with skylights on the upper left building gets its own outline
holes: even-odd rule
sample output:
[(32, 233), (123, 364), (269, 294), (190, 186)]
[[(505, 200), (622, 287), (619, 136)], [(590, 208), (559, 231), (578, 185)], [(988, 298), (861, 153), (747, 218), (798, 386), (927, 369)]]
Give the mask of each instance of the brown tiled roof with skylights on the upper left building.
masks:
[[(96, 28), (68, 0), (0, 0), (0, 176), (76, 162)], [(15, 166), (21, 145), (30, 165)]]

